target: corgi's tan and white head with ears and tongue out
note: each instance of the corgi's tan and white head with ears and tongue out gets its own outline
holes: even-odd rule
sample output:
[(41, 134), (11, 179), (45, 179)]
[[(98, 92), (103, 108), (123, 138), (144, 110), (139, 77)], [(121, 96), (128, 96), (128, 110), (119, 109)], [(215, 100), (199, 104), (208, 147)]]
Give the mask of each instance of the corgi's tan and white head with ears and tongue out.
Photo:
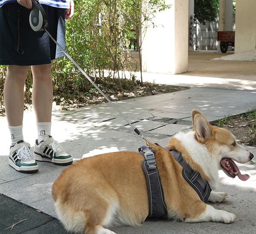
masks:
[(253, 159), (253, 154), (236, 143), (236, 137), (230, 131), (209, 124), (203, 114), (198, 110), (192, 110), (192, 123), (195, 130), (195, 138), (204, 144), (212, 156), (218, 158), (218, 167), (227, 176), (241, 180), (249, 179), (249, 175), (242, 175), (236, 162), (247, 163)]

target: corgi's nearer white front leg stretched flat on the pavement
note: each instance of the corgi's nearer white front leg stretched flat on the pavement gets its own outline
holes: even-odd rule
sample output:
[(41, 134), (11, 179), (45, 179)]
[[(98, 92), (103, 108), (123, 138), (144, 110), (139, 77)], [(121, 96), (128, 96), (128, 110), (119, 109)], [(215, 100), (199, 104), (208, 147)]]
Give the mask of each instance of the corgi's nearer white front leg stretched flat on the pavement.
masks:
[(234, 222), (236, 215), (227, 211), (216, 210), (211, 205), (207, 205), (205, 211), (195, 218), (186, 218), (185, 222)]

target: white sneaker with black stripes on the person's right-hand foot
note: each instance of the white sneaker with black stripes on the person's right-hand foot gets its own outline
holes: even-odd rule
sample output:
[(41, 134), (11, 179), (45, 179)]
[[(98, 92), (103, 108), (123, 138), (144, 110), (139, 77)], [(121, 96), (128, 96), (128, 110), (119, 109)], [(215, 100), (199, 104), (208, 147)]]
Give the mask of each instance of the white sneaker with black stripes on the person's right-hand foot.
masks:
[(35, 141), (34, 158), (37, 161), (52, 162), (56, 165), (69, 165), (73, 162), (72, 156), (65, 153), (61, 145), (52, 136), (44, 141)]

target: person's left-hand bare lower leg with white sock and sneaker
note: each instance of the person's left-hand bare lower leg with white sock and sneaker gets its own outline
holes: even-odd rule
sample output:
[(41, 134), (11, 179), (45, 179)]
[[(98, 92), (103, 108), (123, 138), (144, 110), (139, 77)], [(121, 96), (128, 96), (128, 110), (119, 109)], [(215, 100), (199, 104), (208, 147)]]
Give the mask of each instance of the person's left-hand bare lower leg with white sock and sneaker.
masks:
[(30, 145), (23, 141), (22, 122), (24, 111), (24, 85), (29, 66), (8, 67), (4, 84), (6, 118), (11, 133), (9, 165), (24, 173), (38, 171), (38, 165), (30, 153)]

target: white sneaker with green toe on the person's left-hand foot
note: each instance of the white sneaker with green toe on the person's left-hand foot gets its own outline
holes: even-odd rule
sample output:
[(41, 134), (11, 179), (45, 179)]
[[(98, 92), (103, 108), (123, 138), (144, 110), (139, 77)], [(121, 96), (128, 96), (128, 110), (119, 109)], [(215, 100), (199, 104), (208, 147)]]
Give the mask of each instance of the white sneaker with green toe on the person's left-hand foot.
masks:
[(30, 153), (30, 144), (24, 141), (17, 142), (10, 148), (9, 165), (22, 173), (38, 171), (38, 164)]

